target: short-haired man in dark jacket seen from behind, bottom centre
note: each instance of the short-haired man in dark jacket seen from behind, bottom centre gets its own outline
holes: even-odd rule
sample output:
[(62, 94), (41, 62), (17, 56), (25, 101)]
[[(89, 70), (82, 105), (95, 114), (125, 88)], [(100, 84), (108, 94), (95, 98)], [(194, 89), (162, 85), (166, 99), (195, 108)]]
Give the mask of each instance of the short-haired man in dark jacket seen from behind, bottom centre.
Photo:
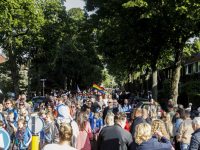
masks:
[(117, 112), (114, 126), (104, 127), (97, 140), (97, 150), (128, 150), (133, 141), (130, 132), (124, 129), (126, 114)]

